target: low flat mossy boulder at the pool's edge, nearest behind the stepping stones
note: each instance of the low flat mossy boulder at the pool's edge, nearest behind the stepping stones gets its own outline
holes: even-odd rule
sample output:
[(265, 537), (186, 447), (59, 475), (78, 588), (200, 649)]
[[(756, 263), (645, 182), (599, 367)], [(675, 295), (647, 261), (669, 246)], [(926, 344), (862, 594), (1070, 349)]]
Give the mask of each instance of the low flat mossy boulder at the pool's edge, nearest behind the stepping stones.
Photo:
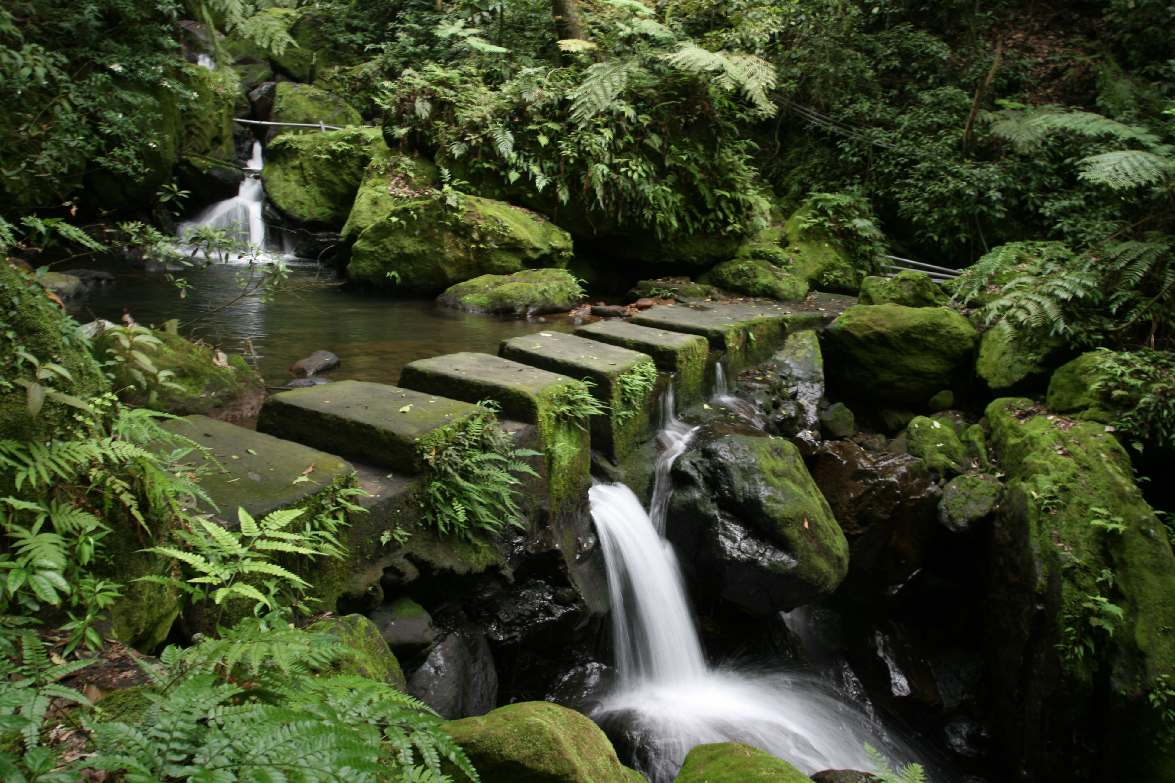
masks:
[(437, 304), (469, 312), (540, 316), (566, 312), (583, 301), (583, 289), (565, 269), (528, 269), (512, 275), (482, 275), (445, 289)]

